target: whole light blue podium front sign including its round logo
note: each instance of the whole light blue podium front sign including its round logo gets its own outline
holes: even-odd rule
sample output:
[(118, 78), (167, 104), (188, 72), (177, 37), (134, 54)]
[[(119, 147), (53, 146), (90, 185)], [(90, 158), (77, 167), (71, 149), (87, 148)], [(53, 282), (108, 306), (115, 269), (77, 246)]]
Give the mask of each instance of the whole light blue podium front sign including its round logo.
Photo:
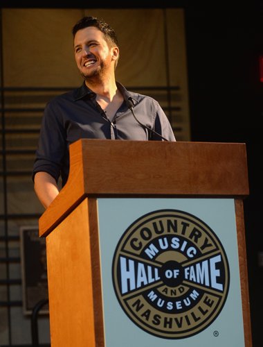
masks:
[(233, 198), (98, 198), (106, 347), (245, 346)]

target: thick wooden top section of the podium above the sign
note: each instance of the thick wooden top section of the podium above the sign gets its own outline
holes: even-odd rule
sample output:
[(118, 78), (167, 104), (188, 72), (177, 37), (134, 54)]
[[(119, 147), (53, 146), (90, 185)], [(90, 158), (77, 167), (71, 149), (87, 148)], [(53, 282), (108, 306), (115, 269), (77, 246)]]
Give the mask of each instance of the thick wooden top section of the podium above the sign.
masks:
[(246, 145), (80, 139), (69, 180), (39, 219), (48, 235), (87, 196), (239, 197), (249, 194)]

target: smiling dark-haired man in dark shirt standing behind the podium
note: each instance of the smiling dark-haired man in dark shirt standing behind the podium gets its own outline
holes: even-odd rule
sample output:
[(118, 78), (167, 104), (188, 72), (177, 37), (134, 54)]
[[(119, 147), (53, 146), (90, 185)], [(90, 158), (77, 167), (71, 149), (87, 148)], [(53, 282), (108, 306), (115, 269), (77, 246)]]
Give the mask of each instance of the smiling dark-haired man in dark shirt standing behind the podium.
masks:
[[(84, 17), (73, 28), (75, 61), (84, 78), (82, 87), (62, 94), (45, 108), (33, 180), (35, 192), (48, 207), (69, 176), (69, 145), (80, 138), (161, 140), (147, 128), (175, 141), (172, 128), (158, 103), (128, 92), (115, 81), (118, 40), (103, 20)], [(139, 124), (129, 110), (131, 103)]]

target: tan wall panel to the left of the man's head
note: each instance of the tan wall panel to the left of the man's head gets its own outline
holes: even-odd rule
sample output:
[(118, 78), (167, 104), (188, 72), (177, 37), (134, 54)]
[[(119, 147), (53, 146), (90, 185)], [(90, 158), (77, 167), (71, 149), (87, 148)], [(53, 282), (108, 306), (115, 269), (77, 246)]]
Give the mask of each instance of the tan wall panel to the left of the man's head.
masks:
[(71, 87), (82, 78), (75, 66), (71, 29), (83, 10), (4, 8), (5, 87)]

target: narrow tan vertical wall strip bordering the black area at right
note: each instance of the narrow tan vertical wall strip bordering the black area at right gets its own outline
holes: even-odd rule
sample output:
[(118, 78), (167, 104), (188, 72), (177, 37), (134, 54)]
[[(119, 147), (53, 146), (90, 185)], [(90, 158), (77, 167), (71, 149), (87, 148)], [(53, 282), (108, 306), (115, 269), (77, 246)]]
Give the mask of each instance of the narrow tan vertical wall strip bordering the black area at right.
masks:
[(181, 111), (176, 112), (175, 117), (173, 117), (174, 121), (179, 124), (172, 125), (174, 127), (181, 126), (183, 129), (177, 139), (190, 141), (188, 72), (183, 9), (166, 9), (166, 18), (170, 85), (180, 87), (179, 92), (172, 92), (172, 106), (181, 107)]

